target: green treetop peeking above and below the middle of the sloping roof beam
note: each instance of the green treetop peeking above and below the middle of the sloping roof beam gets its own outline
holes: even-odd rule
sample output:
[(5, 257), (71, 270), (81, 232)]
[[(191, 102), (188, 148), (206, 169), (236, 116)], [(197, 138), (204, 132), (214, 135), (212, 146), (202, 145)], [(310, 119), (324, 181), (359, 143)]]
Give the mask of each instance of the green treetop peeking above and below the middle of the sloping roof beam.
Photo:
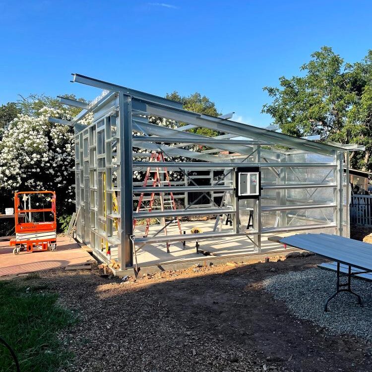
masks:
[[(221, 113), (217, 110), (216, 105), (208, 97), (202, 96), (200, 93), (195, 92), (189, 96), (180, 96), (177, 91), (173, 93), (167, 93), (166, 98), (181, 102), (185, 110), (193, 111), (199, 114), (220, 116)], [(208, 129), (208, 128), (193, 128), (188, 130), (191, 133), (197, 133), (213, 137), (222, 134), (219, 131)]]

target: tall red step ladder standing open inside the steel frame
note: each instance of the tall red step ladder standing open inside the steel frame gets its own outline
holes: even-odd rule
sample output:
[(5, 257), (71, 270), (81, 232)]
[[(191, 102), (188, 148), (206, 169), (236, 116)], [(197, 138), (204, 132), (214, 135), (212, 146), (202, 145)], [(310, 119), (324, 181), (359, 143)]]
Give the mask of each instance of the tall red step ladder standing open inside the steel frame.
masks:
[[(163, 152), (158, 152), (158, 153), (153, 152), (151, 154), (151, 157), (150, 157), (150, 162), (154, 162), (154, 163), (165, 162)], [(171, 182), (170, 182), (170, 179), (169, 179), (169, 174), (168, 174), (168, 171), (167, 171), (166, 167), (164, 167), (163, 172), (159, 170), (159, 169), (161, 169), (159, 167), (154, 167), (155, 168), (154, 171), (151, 171), (151, 168), (152, 167), (147, 168), (146, 176), (145, 176), (145, 179), (143, 181), (143, 187), (147, 186), (147, 183), (148, 183), (149, 177), (150, 177), (150, 173), (154, 174), (153, 180), (152, 180), (152, 187), (162, 186), (162, 182), (164, 182), (168, 186), (171, 186)], [(165, 181), (161, 180), (161, 177), (160, 177), (161, 173), (165, 174)], [(168, 192), (168, 191), (166, 191), (166, 192)], [(150, 203), (149, 203), (149, 207), (148, 207), (149, 212), (151, 212), (152, 208), (153, 208), (153, 204), (154, 204), (154, 200), (155, 200), (155, 193), (156, 192), (151, 193)], [(164, 211), (164, 199), (163, 199), (162, 192), (159, 192), (159, 194), (160, 194), (160, 208), (161, 208), (162, 211)], [(143, 195), (144, 195), (144, 192), (142, 192), (141, 195), (139, 196), (136, 212), (139, 212), (140, 209), (141, 209), (141, 206), (142, 206), (142, 203), (143, 203)], [(169, 192), (169, 197), (170, 197), (170, 206), (171, 206), (172, 210), (176, 210), (177, 208), (176, 208), (176, 202), (175, 202), (175, 198), (173, 196), (173, 192)], [(178, 229), (180, 231), (180, 234), (182, 235), (182, 229), (181, 229), (181, 224), (180, 224), (179, 217), (176, 217), (176, 220), (177, 220), (177, 224), (178, 224)], [(137, 223), (137, 220), (133, 219), (133, 231), (135, 229), (136, 223)], [(148, 217), (146, 219), (145, 237), (148, 236), (149, 229), (150, 229), (150, 217)], [(168, 235), (166, 227), (164, 227), (164, 231), (165, 231), (165, 235)], [(169, 253), (169, 243), (168, 242), (167, 242), (167, 252)]]

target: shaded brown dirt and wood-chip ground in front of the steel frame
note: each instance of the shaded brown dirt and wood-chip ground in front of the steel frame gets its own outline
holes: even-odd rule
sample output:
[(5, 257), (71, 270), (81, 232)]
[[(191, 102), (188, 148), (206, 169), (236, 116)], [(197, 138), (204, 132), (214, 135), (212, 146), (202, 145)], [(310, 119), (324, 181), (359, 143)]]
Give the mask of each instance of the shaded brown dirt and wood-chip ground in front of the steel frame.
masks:
[(64, 371), (371, 371), (370, 343), (293, 317), (262, 288), (270, 275), (321, 261), (192, 267), (124, 283), (97, 269), (34, 280), (81, 319), (60, 335), (76, 355)]

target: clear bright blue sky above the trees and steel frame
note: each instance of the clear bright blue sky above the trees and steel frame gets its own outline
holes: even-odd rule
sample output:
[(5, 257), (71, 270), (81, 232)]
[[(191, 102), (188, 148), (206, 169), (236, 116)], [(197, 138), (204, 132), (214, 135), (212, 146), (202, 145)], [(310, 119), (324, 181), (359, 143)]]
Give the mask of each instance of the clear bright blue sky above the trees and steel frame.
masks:
[(372, 49), (371, 1), (0, 0), (0, 104), (74, 93), (77, 72), (164, 96), (195, 91), (248, 124), (270, 124), (262, 87), (323, 45), (346, 61)]

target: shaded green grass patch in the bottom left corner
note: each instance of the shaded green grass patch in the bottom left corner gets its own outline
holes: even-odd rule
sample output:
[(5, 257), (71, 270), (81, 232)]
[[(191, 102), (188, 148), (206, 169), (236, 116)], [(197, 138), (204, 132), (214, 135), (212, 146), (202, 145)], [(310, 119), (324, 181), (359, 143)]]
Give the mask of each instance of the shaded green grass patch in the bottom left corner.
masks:
[[(54, 372), (72, 356), (63, 349), (58, 331), (76, 321), (56, 302), (46, 286), (21, 281), (0, 282), (0, 336), (18, 357), (21, 372)], [(0, 372), (13, 372), (15, 365), (0, 345)]]

